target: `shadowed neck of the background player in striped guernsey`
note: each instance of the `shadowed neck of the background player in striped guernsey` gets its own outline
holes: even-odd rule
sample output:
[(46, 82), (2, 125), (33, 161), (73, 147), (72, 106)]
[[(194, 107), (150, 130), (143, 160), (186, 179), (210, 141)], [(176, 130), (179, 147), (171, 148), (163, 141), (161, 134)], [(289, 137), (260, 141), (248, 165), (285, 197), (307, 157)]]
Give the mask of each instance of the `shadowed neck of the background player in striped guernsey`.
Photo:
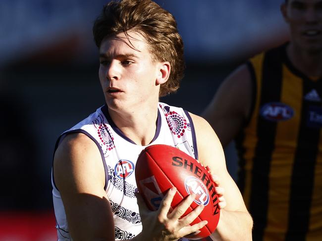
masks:
[(292, 64), (306, 76), (322, 76), (322, 51), (312, 53), (290, 43), (286, 49)]

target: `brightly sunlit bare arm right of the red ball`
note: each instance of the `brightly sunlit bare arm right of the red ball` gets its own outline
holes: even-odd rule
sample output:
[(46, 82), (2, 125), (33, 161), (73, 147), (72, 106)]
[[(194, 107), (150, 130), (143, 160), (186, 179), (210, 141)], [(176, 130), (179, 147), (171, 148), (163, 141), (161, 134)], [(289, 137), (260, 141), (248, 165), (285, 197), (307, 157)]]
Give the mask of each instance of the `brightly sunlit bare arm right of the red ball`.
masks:
[(228, 174), (221, 144), (206, 120), (196, 115), (191, 116), (196, 130), (199, 160), (204, 166), (210, 167), (212, 174), (218, 176), (226, 200), (226, 207), (220, 209), (220, 219), (212, 238), (251, 241), (253, 221), (239, 189)]

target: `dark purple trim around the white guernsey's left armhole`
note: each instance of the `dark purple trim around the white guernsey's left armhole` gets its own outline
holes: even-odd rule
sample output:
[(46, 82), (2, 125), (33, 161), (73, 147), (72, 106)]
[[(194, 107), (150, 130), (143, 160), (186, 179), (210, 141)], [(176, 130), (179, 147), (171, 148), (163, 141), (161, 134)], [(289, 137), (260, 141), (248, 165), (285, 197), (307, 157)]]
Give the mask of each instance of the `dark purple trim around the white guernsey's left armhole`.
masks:
[[(55, 145), (55, 149), (54, 149), (54, 153), (56, 152), (56, 149), (58, 148), (58, 145), (61, 143), (61, 141), (68, 135), (68, 134), (72, 134), (72, 133), (83, 133), (84, 135), (88, 136), (99, 148), (100, 153), (101, 153), (101, 157), (102, 157), (102, 161), (103, 161), (103, 165), (104, 165), (104, 172), (105, 172), (105, 185), (104, 185), (104, 190), (107, 190), (107, 182), (108, 182), (108, 171), (107, 171), (107, 166), (106, 166), (106, 161), (105, 161), (105, 156), (102, 150), (101, 145), (95, 140), (94, 137), (92, 137), (87, 131), (84, 131), (82, 129), (76, 129), (76, 130), (71, 130), (71, 131), (66, 131), (64, 132), (61, 136), (59, 136), (56, 145)], [(53, 159), (54, 160), (54, 159)], [(55, 180), (54, 180), (54, 165), (52, 168), (52, 178), (53, 178), (53, 183), (55, 188), (58, 190), (56, 184), (55, 184)], [(59, 190), (58, 190), (59, 191)]]

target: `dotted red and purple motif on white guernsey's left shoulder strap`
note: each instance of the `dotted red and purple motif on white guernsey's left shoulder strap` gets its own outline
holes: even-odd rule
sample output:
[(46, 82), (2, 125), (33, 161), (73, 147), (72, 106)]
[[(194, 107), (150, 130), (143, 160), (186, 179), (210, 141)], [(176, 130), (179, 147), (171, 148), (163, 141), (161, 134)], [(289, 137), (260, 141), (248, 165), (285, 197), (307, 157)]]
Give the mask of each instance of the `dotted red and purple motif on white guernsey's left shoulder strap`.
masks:
[(103, 150), (105, 150), (104, 154), (106, 154), (107, 150), (115, 148), (114, 138), (111, 134), (111, 131), (104, 123), (104, 118), (102, 116), (99, 116), (97, 119), (95, 119), (93, 121), (93, 124), (97, 129), (97, 135), (100, 139), (100, 145), (102, 146)]

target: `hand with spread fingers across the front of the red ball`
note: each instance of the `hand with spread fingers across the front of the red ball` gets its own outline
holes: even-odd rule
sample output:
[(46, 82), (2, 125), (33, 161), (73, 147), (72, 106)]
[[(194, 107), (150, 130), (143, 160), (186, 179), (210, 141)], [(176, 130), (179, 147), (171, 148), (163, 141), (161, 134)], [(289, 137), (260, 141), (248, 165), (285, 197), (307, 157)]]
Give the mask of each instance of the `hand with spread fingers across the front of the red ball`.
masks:
[(163, 197), (157, 211), (149, 210), (142, 196), (136, 193), (143, 226), (141, 233), (142, 240), (176, 241), (191, 233), (198, 233), (199, 229), (208, 223), (207, 221), (202, 221), (192, 226), (189, 225), (204, 209), (203, 205), (199, 205), (189, 214), (180, 218), (190, 207), (190, 204), (195, 198), (195, 194), (188, 195), (172, 210), (171, 202), (175, 193), (175, 188), (170, 189)]

